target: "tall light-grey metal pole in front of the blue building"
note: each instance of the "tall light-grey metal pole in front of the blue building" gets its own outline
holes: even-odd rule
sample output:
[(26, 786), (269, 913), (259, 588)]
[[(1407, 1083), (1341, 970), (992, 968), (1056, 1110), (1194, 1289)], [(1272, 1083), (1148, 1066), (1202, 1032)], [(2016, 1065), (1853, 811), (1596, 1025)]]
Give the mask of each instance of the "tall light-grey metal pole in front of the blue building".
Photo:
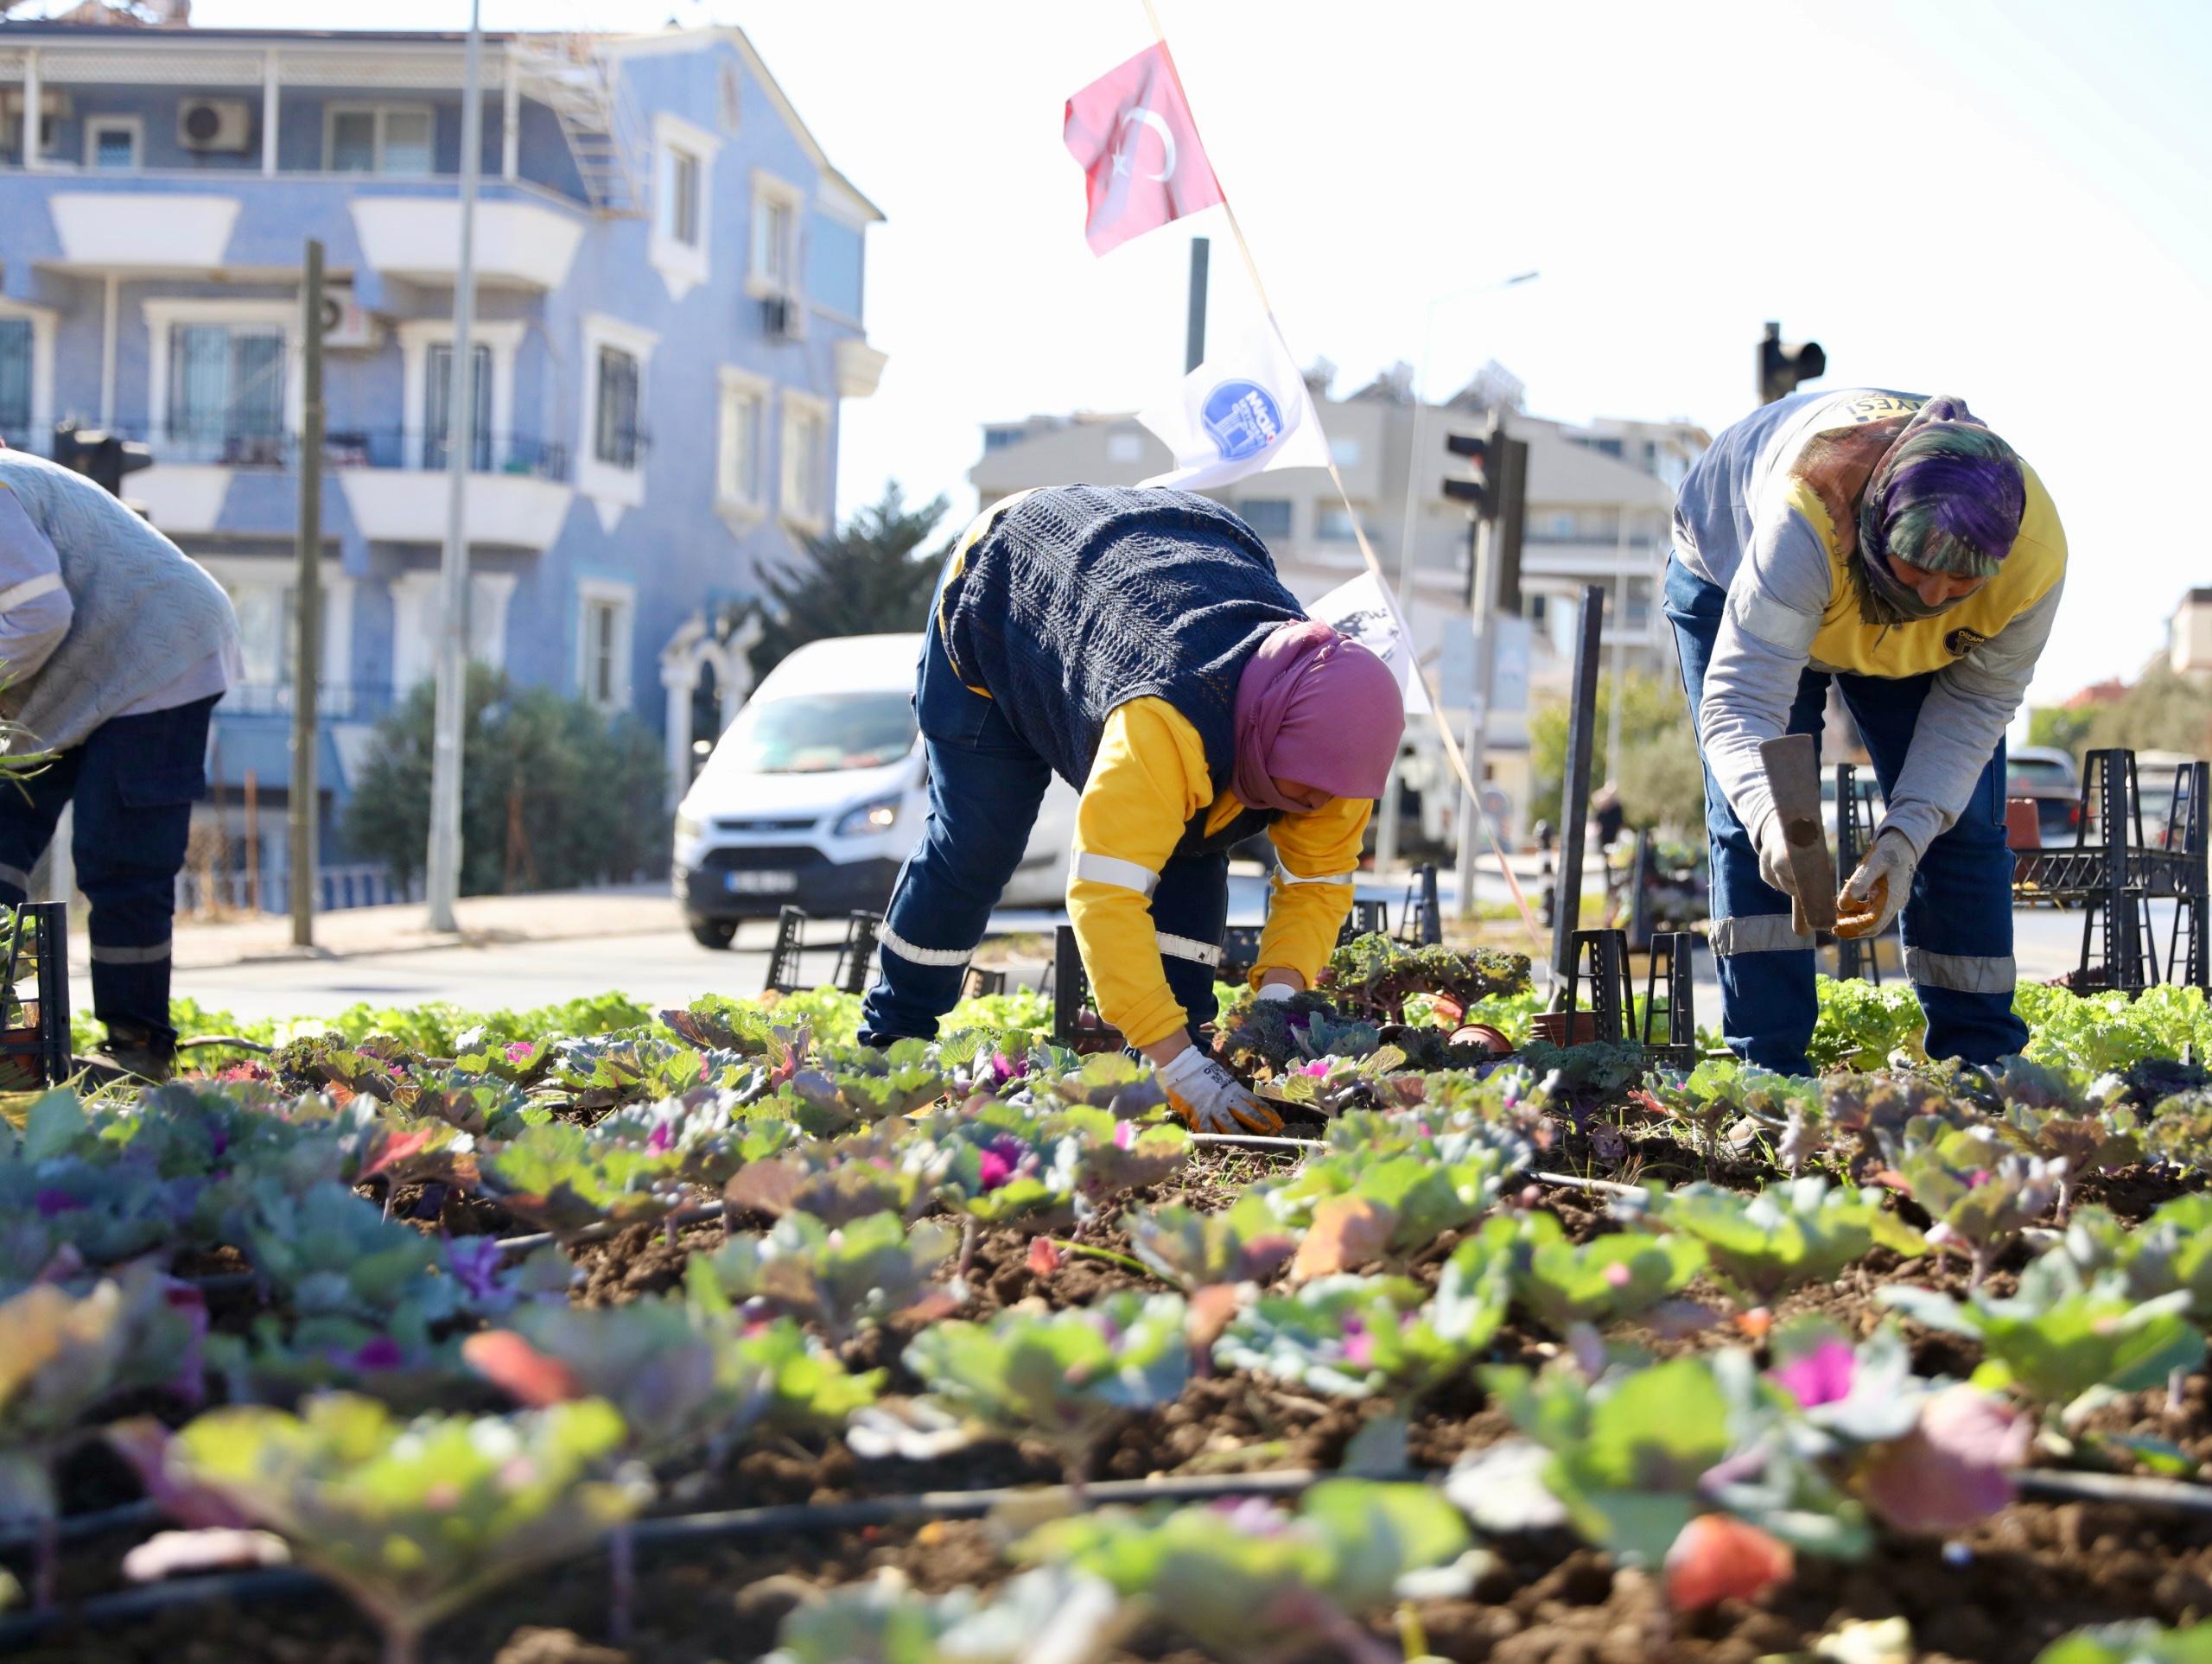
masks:
[(431, 929), (458, 929), (460, 732), (469, 708), (469, 451), (476, 438), (476, 188), (484, 173), (484, 20), (469, 0), (469, 51), (460, 95), (460, 263), (453, 268), (453, 354), (445, 394), (445, 560), (438, 566), (438, 706), (429, 752)]

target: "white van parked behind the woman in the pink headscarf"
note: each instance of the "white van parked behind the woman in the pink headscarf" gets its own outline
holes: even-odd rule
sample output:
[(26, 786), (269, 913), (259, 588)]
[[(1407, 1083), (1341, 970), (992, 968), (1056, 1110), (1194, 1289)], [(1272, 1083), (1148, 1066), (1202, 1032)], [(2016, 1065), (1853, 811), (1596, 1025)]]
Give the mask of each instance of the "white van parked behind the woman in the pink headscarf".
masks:
[[(880, 909), (929, 819), (914, 726), (920, 635), (810, 642), (761, 677), (677, 805), (675, 894), (706, 947), (785, 903), (810, 914)], [(1075, 790), (1053, 779), (1029, 852), (1002, 896), (1060, 907)]]

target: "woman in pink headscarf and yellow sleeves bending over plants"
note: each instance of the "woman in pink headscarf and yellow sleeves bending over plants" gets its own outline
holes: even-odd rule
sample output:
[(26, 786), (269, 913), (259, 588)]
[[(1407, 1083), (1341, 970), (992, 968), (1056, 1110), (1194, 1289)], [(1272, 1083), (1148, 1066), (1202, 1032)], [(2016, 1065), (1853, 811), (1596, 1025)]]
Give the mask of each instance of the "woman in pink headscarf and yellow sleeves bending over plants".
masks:
[(1071, 485), (1006, 498), (960, 538), (914, 708), (929, 828), (860, 1038), (936, 1033), (1057, 772), (1082, 788), (1068, 914), (1099, 1016), (1194, 1126), (1281, 1126), (1194, 1044), (1228, 852), (1261, 830), (1276, 850), (1261, 998), (1312, 987), (1405, 728), (1389, 666), (1305, 617), (1219, 502)]

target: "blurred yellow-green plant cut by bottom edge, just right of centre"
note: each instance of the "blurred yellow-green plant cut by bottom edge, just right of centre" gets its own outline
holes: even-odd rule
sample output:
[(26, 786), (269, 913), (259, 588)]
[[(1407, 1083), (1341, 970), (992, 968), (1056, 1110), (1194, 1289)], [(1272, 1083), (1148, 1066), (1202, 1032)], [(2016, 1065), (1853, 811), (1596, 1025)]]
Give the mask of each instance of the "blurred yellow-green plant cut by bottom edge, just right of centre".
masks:
[(1329, 1478), (1296, 1511), (1261, 1500), (1099, 1509), (1033, 1531), (1013, 1556), (1104, 1580), (1212, 1657), (1325, 1640), (1358, 1660), (1376, 1649), (1352, 1620), (1407, 1595), (1464, 1593), (1484, 1564), (1471, 1542), (1427, 1485)]

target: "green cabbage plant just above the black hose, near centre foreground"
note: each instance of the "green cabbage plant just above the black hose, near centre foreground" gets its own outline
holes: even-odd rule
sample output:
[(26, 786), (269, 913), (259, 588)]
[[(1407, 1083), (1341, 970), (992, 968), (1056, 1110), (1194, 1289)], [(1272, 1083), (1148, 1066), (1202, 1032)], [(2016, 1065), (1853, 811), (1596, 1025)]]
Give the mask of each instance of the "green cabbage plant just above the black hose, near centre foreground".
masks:
[(989, 1323), (931, 1323), (905, 1363), (949, 1410), (1031, 1436), (1082, 1485), (1124, 1410), (1175, 1398), (1190, 1379), (1181, 1294), (1108, 1294), (1066, 1312), (1009, 1306)]

